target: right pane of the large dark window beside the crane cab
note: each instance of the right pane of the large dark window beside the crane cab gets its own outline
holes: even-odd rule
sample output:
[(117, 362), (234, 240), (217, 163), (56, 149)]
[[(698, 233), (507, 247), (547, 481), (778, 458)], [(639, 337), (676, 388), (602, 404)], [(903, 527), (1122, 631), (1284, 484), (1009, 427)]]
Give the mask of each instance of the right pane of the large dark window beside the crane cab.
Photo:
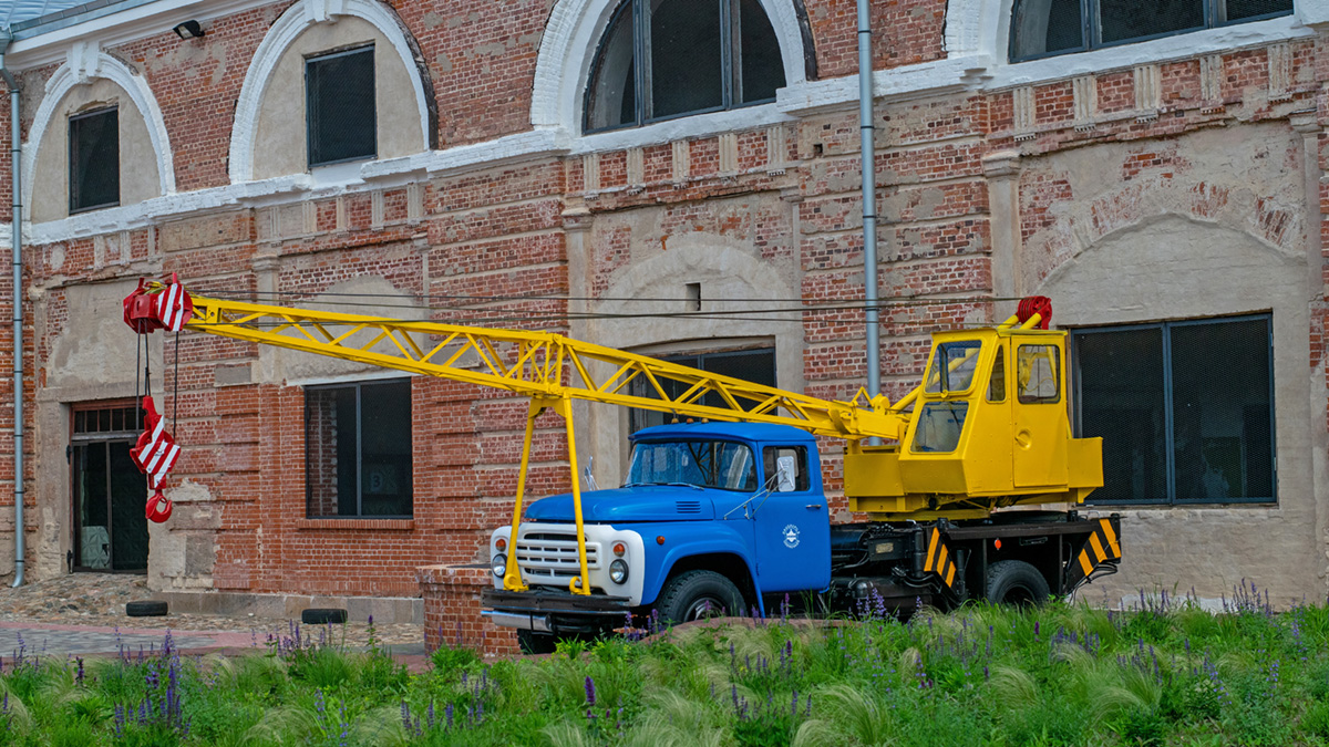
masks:
[(1272, 498), (1268, 320), (1171, 334), (1176, 498)]

